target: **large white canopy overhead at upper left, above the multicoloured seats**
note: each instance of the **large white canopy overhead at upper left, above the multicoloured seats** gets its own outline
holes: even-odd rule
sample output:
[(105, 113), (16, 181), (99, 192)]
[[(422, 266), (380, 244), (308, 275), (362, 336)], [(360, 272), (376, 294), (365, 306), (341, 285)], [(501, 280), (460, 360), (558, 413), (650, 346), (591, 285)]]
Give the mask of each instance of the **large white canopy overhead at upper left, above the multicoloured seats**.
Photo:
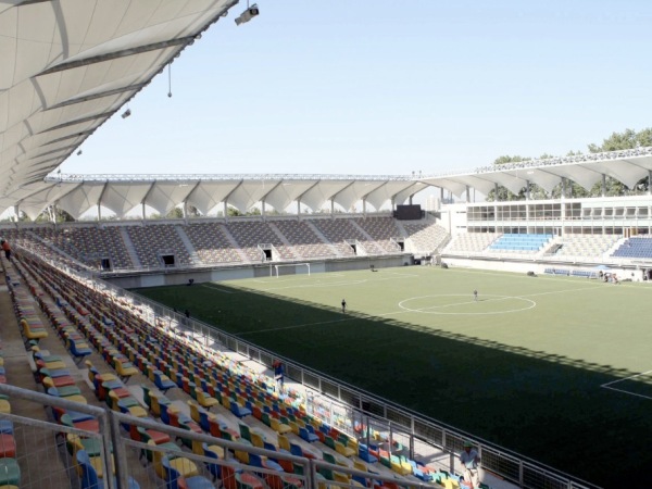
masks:
[(236, 3), (0, 2), (0, 209), (42, 183)]

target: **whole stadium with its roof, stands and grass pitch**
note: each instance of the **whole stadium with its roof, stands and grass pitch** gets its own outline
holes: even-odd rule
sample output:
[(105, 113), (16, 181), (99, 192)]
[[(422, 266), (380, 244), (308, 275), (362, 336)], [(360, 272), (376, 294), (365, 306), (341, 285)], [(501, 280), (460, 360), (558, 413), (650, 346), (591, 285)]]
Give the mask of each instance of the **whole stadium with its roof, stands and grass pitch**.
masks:
[(467, 488), (467, 444), (479, 487), (652, 486), (650, 143), (57, 172), (229, 11), (259, 14), (91, 3), (0, 8), (0, 487)]

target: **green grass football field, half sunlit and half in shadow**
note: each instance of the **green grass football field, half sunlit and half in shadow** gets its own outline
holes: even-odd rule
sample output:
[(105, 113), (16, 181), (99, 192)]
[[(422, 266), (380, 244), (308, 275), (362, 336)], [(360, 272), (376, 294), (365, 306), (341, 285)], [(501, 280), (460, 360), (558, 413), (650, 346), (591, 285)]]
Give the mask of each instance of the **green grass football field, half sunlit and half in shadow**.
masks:
[(413, 266), (137, 292), (593, 484), (652, 487), (647, 284)]

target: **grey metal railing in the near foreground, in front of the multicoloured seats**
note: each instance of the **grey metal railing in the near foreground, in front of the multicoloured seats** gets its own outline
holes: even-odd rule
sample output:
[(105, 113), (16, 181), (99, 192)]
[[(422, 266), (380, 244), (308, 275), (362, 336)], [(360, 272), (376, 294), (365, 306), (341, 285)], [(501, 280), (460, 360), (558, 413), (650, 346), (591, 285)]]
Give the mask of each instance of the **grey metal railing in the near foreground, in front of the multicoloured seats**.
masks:
[[(89, 440), (96, 440), (92, 457), (96, 459), (93, 466), (100, 471), (104, 477), (101, 487), (108, 489), (128, 489), (138, 485), (141, 489), (160, 488), (166, 477), (161, 474), (161, 461), (164, 456), (181, 456), (186, 459), (189, 465), (193, 464), (196, 473), (206, 479), (213, 478), (215, 487), (222, 484), (226, 487), (235, 487), (225, 482), (227, 477), (235, 472), (244, 471), (248, 474), (255, 475), (272, 487), (274, 478), (278, 478), (279, 486), (283, 487), (303, 487), (308, 489), (317, 489), (324, 480), (321, 473), (326, 471), (344, 474), (346, 479), (356, 477), (364, 479), (367, 484), (374, 481), (398, 482), (394, 475), (389, 472), (385, 474), (360, 471), (352, 466), (333, 465), (318, 459), (309, 459), (296, 456), (289, 452), (272, 451), (251, 444), (228, 441), (222, 438), (214, 438), (209, 435), (195, 432), (159, 423), (152, 418), (134, 417), (127, 414), (117, 413), (109, 409), (97, 408), (77, 402), (66, 401), (65, 399), (47, 396), (40, 392), (34, 392), (27, 389), (10, 385), (0, 385), (0, 394), (8, 396), (14, 401), (36, 403), (45, 408), (46, 412), (52, 408), (59, 408), (66, 411), (84, 413), (98, 421), (99, 429), (88, 430), (75, 427), (64, 426), (53, 421), (41, 421), (24, 415), (0, 413), (0, 421), (11, 421), (13, 432), (17, 440), (17, 462), (26, 471), (17, 471), (12, 480), (15, 486), (22, 489), (41, 489), (43, 487), (79, 487), (82, 469), (77, 462), (76, 454), (78, 450), (92, 450), (88, 448)], [(51, 418), (53, 419), (53, 417)], [(178, 444), (152, 444), (134, 439), (130, 434), (141, 428), (143, 430), (154, 430), (165, 435), (170, 440), (180, 441)], [(20, 436), (18, 436), (20, 434)], [(85, 443), (85, 444), (83, 444)], [(208, 446), (217, 446), (222, 448), (224, 456), (220, 459), (208, 457), (198, 454), (195, 451), (196, 443), (206, 443)], [(192, 447), (184, 449), (186, 447)], [(269, 457), (278, 461), (279, 464), (288, 462), (294, 467), (293, 473), (277, 472), (269, 467), (250, 465), (246, 461), (249, 455), (255, 454), (262, 457)], [(97, 463), (97, 459), (100, 463)], [(146, 460), (143, 466), (141, 460)], [(336, 457), (337, 459), (337, 457)], [(148, 464), (150, 460), (152, 463)], [(244, 461), (244, 462), (243, 462)], [(216, 467), (220, 467), (216, 469)], [(297, 467), (301, 467), (298, 469)], [(220, 473), (221, 480), (217, 480), (214, 474)], [(114, 477), (106, 476), (113, 474)], [(3, 477), (7, 474), (3, 474)], [(235, 476), (235, 475), (234, 475)], [(324, 480), (325, 481), (325, 480)], [(353, 481), (328, 480), (331, 487), (354, 487)], [(421, 484), (417, 480), (401, 479), (401, 485), (409, 489), (425, 489), (430, 487)], [(167, 486), (166, 486), (167, 487)]]

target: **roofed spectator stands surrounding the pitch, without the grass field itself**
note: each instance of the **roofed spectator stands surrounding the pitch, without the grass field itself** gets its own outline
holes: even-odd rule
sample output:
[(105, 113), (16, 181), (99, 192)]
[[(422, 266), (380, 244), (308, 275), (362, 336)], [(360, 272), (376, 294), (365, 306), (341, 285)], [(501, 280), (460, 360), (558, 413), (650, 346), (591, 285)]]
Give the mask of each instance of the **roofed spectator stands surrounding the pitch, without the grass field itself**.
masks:
[[(288, 365), (280, 392), (274, 352), (125, 287), (263, 277), (274, 264), (311, 263), (319, 273), (435, 256), (452, 267), (652, 279), (652, 148), (418, 177), (51, 174), (236, 2), (197, 2), (183, 17), (134, 9), (93, 23), (86, 9), (53, 13), (50, 3), (0, 12), (16, 26), (0, 40), (12, 57), (3, 65), (0, 203), (30, 220), (0, 225), (14, 250), (1, 259), (0, 487), (464, 487), (454, 454), (480, 437), (301, 365)], [(32, 42), (18, 24), (65, 46)], [(87, 39), (88, 25), (103, 27)], [(133, 35), (120, 34), (133, 25)], [(125, 60), (129, 67), (109, 66)], [(631, 189), (647, 178), (648, 187), (607, 196), (606, 177)], [(601, 184), (602, 196), (576, 198), (569, 180)], [(549, 193), (561, 184), (562, 197), (531, 200), (531, 184)], [(524, 189), (525, 200), (472, 202), (471, 190), (499, 186)], [(451, 203), (421, 220), (394, 216), (432, 188)], [(356, 203), (362, 213), (336, 212)], [(199, 217), (146, 212), (190, 206)], [(230, 217), (229, 208), (262, 211)], [(37, 223), (46, 209), (78, 222)], [(135, 209), (139, 218), (127, 218)], [(82, 221), (89, 212), (97, 220)], [(494, 489), (604, 484), (519, 456), (517, 447), (478, 448)], [(640, 473), (614, 467), (606, 484), (636, 477), (651, 486), (652, 461), (640, 456)]]

